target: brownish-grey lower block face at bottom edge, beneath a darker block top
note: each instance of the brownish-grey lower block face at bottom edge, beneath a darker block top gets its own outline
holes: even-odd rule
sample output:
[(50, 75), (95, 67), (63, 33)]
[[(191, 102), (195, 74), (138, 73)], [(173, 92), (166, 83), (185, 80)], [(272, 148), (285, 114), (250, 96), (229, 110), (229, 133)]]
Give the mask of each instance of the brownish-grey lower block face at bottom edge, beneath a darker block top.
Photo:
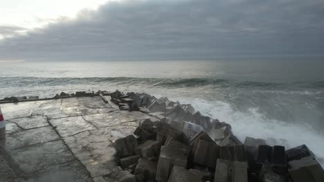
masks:
[(247, 167), (246, 162), (217, 159), (214, 182), (247, 182)]

